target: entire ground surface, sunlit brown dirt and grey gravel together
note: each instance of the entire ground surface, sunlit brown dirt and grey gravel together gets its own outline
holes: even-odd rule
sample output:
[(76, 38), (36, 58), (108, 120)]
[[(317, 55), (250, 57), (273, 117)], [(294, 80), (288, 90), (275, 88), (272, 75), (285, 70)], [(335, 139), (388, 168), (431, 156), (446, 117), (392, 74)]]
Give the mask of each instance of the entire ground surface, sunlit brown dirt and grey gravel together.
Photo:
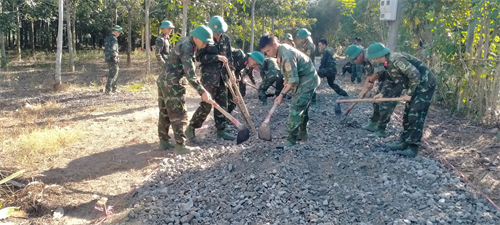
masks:
[[(391, 137), (387, 139), (369, 139), (368, 133), (359, 129), (368, 120), (370, 104), (355, 108), (350, 123), (339, 123), (333, 113), (333, 102), (338, 96), (324, 81), (319, 90), (321, 107), (311, 110), (311, 138), (299, 147), (290, 151), (274, 149), (286, 138), (288, 112), (284, 105), (272, 119), (272, 143), (256, 137), (240, 146), (216, 140), (211, 128), (213, 120), (209, 118), (198, 132), (200, 151), (174, 157), (171, 152), (157, 150), (156, 89), (151, 82), (154, 79), (140, 75), (140, 63), (121, 70), (121, 82), (144, 85), (122, 87), (123, 92), (113, 96), (102, 96), (99, 88), (92, 85), (96, 74), (105, 72), (102, 63), (80, 65), (93, 69), (66, 74), (66, 80), (76, 87), (59, 93), (36, 88), (43, 82), (34, 82), (33, 78), (43, 80), (47, 69), (28, 70), (30, 66), (26, 63), (0, 74), (4, 77), (0, 122), (5, 137), (0, 169), (28, 169), (18, 181), (35, 181), (10, 202), (30, 213), (29, 219), (12, 219), (14, 222), (92, 223), (103, 216), (94, 209), (99, 199), (106, 197), (108, 203), (116, 203), (160, 166), (162, 172), (155, 179), (114, 208), (115, 215), (108, 223), (163, 224), (197, 218), (199, 223), (211, 224), (223, 221), (381, 224), (399, 222), (398, 219), (412, 222), (411, 217), (415, 218), (413, 222), (422, 222), (418, 220), (422, 217), (423, 222), (438, 223), (456, 216), (465, 224), (491, 224), (490, 220), (476, 217), (479, 214), (473, 213), (464, 202), (473, 204), (474, 212), (491, 215), (493, 224), (498, 223), (499, 214), (487, 202), (457, 179), (443, 162), (433, 160), (446, 157), (498, 203), (500, 158), (496, 134), (488, 132), (489, 128), (450, 117), (438, 106), (431, 109), (427, 120), (432, 134), (426, 130), (426, 140), (438, 152), (425, 149), (422, 157), (415, 160), (401, 159), (381, 148), (382, 143), (397, 139), (401, 126), (395, 119), (390, 123)], [(15, 72), (21, 70), (25, 72)], [(14, 75), (20, 76), (17, 83), (7, 79)], [(338, 83), (353, 95), (359, 86), (351, 85), (348, 80), (339, 78)], [(246, 101), (254, 124), (259, 125), (270, 106), (261, 107), (251, 89)], [(57, 108), (52, 111), (23, 114), (26, 103), (43, 106), (53, 102)], [(188, 96), (190, 114), (198, 103), (196, 95)], [(401, 109), (398, 106), (398, 113)], [(29, 163), (8, 151), (19, 136), (37, 129), (77, 130), (79, 140), (56, 154), (47, 153)], [(7, 136), (8, 133), (15, 134)], [(446, 181), (427, 183), (436, 180), (434, 177)], [(414, 202), (403, 204), (412, 196)], [(441, 199), (445, 199), (445, 204), (440, 203)], [(36, 203), (29, 204), (30, 201)], [(416, 205), (426, 208), (419, 209)], [(54, 220), (52, 213), (58, 207), (65, 214)], [(410, 210), (414, 207), (428, 215)], [(452, 211), (470, 215), (449, 214)], [(241, 216), (235, 216), (236, 213)], [(448, 218), (439, 213), (448, 213)]]

